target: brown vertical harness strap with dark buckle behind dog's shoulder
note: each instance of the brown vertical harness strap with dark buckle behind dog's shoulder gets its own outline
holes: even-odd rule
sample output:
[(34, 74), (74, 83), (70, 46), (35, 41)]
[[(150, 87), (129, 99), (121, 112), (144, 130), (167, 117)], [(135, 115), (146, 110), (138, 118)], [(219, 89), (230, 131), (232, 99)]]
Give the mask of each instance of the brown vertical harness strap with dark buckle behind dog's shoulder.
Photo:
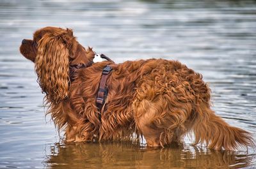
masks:
[(109, 65), (102, 70), (102, 76), (100, 78), (99, 90), (96, 99), (96, 105), (100, 112), (105, 103), (105, 99), (108, 96), (108, 86), (106, 85), (106, 83), (111, 71), (112, 68)]

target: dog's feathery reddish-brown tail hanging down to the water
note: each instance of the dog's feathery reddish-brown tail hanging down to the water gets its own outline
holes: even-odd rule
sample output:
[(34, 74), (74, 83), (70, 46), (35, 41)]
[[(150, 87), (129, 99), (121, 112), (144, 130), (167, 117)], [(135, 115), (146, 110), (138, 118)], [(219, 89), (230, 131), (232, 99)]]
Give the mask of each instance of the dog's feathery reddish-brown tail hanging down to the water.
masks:
[(195, 134), (195, 145), (206, 143), (210, 149), (234, 150), (240, 146), (255, 147), (251, 133), (243, 129), (232, 127), (221, 117), (216, 115), (204, 103), (196, 107), (192, 129)]

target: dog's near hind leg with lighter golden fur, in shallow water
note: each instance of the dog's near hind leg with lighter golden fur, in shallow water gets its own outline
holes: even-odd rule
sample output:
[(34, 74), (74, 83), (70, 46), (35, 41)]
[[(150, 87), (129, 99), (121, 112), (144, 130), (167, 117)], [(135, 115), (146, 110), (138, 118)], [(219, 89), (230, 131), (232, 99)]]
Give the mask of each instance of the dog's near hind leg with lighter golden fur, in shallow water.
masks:
[(186, 133), (186, 110), (170, 108), (168, 101), (163, 97), (154, 101), (134, 101), (133, 110), (136, 128), (145, 137), (149, 147), (180, 143)]

